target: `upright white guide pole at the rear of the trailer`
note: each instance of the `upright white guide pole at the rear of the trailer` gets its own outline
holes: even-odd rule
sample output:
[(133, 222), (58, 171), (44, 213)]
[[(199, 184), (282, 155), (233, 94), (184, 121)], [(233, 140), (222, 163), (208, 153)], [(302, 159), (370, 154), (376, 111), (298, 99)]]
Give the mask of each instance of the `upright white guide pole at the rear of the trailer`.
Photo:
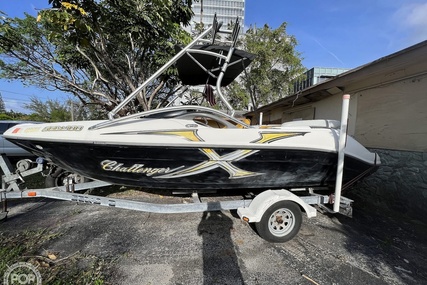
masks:
[(341, 202), (341, 188), (342, 188), (342, 177), (344, 172), (344, 155), (345, 155), (345, 143), (347, 140), (347, 120), (348, 120), (348, 109), (350, 105), (350, 95), (345, 94), (342, 97), (342, 113), (341, 113), (341, 129), (338, 143), (338, 164), (337, 164), (337, 179), (335, 183), (335, 202), (334, 212), (340, 211)]

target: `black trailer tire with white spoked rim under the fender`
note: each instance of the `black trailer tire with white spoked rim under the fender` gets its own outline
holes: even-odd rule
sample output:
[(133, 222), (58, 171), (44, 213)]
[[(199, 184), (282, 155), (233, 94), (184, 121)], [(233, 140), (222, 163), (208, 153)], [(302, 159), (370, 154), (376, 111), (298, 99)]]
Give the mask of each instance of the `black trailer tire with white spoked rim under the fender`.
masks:
[(269, 242), (291, 240), (301, 228), (300, 207), (291, 201), (280, 201), (268, 208), (259, 222), (255, 223), (258, 234)]

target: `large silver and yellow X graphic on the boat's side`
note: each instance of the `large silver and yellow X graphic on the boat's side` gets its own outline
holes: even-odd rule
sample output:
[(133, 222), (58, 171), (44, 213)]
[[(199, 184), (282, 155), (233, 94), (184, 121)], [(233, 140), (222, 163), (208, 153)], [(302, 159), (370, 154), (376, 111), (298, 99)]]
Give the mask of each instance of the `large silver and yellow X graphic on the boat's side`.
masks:
[[(175, 135), (185, 137), (190, 141), (203, 141), (197, 134), (197, 130), (194, 131), (162, 131), (155, 132), (152, 134), (164, 134), (164, 135)], [(270, 143), (272, 141), (289, 138), (293, 136), (303, 135), (304, 133), (276, 133), (276, 132), (260, 132), (260, 138), (252, 143), (257, 144), (265, 144)], [(165, 175), (157, 176), (156, 178), (178, 178), (185, 177), (195, 174), (204, 173), (215, 168), (222, 168), (230, 174), (230, 179), (243, 178), (243, 177), (251, 177), (262, 175), (263, 173), (252, 172), (236, 167), (232, 164), (232, 162), (239, 161), (245, 157), (248, 157), (259, 150), (254, 149), (239, 149), (233, 152), (230, 152), (225, 155), (219, 155), (216, 151), (210, 148), (200, 148), (202, 153), (204, 153), (209, 159), (202, 161), (194, 166), (187, 167), (181, 170), (177, 170), (172, 173), (168, 173)]]

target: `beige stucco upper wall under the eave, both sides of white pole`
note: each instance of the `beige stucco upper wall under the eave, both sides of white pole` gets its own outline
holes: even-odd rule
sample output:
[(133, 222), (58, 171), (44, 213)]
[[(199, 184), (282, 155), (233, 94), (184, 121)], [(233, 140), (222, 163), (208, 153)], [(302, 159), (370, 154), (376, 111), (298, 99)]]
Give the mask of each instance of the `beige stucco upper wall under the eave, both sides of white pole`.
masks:
[[(348, 134), (371, 148), (427, 152), (427, 75), (384, 86), (349, 92)], [(301, 114), (313, 111), (314, 119), (341, 119), (342, 95), (319, 102), (275, 110), (282, 121), (310, 119)]]

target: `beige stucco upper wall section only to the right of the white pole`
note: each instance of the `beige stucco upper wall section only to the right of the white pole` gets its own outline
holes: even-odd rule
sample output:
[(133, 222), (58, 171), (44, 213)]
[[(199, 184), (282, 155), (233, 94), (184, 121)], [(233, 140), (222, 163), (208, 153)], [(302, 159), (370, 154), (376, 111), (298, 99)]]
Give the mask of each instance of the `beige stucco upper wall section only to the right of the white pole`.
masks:
[(361, 91), (355, 137), (366, 147), (427, 152), (427, 75)]

